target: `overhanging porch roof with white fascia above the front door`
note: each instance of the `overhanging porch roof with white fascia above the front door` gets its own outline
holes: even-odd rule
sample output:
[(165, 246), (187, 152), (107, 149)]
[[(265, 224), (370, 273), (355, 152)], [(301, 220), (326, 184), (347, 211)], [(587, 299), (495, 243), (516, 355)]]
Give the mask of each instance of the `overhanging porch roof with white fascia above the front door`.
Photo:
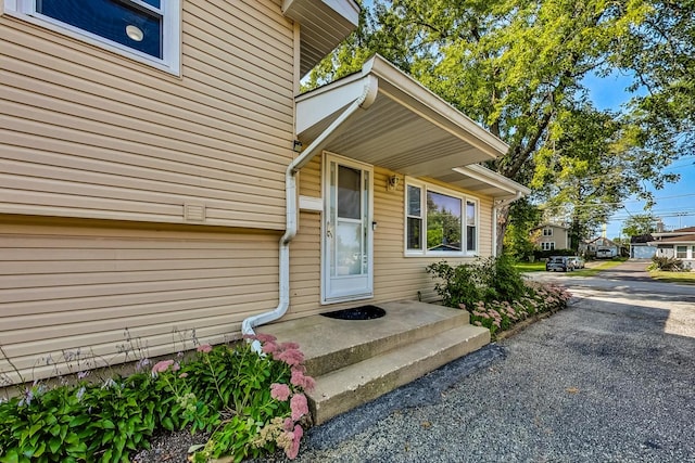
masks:
[[(359, 99), (362, 108), (342, 119)], [(529, 192), (482, 166), (470, 166), (503, 155), (506, 143), (379, 55), (361, 73), (301, 94), (295, 102), (296, 137), (314, 150), (495, 197)], [(320, 146), (313, 144), (317, 140)]]

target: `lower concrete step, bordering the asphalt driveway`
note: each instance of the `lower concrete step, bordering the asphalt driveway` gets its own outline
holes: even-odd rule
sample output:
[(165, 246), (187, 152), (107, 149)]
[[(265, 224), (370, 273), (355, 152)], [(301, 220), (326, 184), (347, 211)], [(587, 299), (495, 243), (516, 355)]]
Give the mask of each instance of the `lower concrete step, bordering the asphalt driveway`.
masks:
[(325, 423), (489, 343), (488, 330), (465, 324), (321, 374), (308, 394), (314, 423)]

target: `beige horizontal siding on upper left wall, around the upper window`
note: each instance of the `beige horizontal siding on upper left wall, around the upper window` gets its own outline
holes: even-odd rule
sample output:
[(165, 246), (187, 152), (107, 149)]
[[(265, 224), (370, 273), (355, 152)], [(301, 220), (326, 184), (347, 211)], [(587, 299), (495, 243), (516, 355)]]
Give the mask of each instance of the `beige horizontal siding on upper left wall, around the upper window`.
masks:
[(181, 77), (0, 16), (0, 214), (285, 228), (293, 25), (182, 1)]

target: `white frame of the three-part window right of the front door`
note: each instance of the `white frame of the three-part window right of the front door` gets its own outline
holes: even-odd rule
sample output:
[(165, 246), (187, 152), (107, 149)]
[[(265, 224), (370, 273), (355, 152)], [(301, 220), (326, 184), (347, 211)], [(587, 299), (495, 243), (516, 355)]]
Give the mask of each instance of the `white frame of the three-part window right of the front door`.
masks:
[[(408, 185), (417, 187), (420, 189), (420, 215), (421, 215), (421, 229), (422, 236), (421, 249), (408, 249), (408, 198), (407, 191)], [(405, 257), (477, 257), (480, 255), (480, 200), (475, 196), (467, 195), (456, 190), (450, 190), (444, 187), (434, 185), (431, 183), (427, 183), (421, 180), (413, 179), (409, 177), (405, 178), (405, 188), (404, 191), (404, 209), (403, 209), (403, 249)], [(456, 197), (462, 202), (462, 250), (451, 252), (451, 250), (428, 250), (427, 249), (427, 192), (431, 191), (434, 193), (445, 194), (447, 196)], [(466, 229), (466, 202), (476, 204), (476, 249), (475, 250), (466, 250), (468, 245), (468, 231)]]

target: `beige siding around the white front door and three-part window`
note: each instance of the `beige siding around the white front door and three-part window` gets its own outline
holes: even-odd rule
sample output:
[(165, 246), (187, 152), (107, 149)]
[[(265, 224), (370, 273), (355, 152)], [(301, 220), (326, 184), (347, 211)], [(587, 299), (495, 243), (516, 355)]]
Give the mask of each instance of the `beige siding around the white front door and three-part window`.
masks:
[[(399, 184), (396, 191), (387, 190), (388, 179), (394, 173), (379, 167), (374, 169), (374, 220), (378, 223), (374, 232), (374, 298), (366, 301), (320, 305), (321, 216), (317, 213), (302, 211), (298, 236), (290, 245), (291, 297), (287, 318), (305, 317), (342, 307), (354, 307), (358, 304), (416, 299), (418, 292), (419, 297), (425, 301), (438, 299), (433, 291), (434, 282), (425, 271), (425, 267), (442, 258), (405, 257), (404, 182)], [(479, 253), (483, 257), (490, 256), (492, 254), (492, 198), (477, 196), (431, 179), (421, 180), (460, 191), (468, 197), (478, 200)], [(317, 157), (302, 169), (300, 194), (320, 197), (320, 162)], [(450, 263), (475, 260), (472, 257), (446, 257), (445, 259)]]

